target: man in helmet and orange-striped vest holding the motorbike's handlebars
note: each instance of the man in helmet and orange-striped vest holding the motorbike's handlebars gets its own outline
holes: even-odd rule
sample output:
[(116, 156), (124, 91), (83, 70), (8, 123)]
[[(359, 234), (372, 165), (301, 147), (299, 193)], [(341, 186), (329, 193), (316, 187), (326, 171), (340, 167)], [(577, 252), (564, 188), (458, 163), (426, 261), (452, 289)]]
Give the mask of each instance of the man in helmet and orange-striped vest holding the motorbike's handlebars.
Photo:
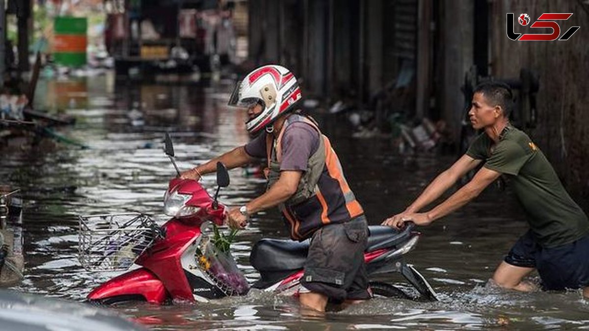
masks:
[(229, 211), (227, 223), (243, 228), (249, 217), (278, 206), (293, 240), (312, 238), (299, 292), (300, 303), (325, 311), (335, 302), (371, 297), (363, 252), (368, 224), (343, 176), (342, 166), (312, 118), (296, 111), (301, 92), (292, 72), (266, 65), (238, 82), (229, 105), (247, 108), (249, 144), (184, 172), (198, 179), (216, 171), (266, 158), (266, 193)]

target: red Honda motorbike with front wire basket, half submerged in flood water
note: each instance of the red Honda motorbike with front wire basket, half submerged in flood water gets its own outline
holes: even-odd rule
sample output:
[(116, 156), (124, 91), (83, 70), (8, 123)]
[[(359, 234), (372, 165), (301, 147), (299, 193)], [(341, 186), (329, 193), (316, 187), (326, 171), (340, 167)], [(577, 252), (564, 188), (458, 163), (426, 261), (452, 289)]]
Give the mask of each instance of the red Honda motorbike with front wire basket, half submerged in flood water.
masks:
[[(167, 134), (166, 154), (179, 174)], [(164, 210), (172, 218), (161, 227), (143, 214), (81, 216), (79, 257), (82, 266), (101, 271), (140, 266), (101, 284), (87, 299), (104, 304), (130, 300), (162, 304), (170, 300), (207, 302), (245, 294), (247, 283), (245, 287), (239, 286), (239, 277), (243, 275), (227, 277), (219, 273), (210, 266), (211, 261), (205, 254), (210, 240), (203, 231), (211, 223), (221, 226), (226, 215), (226, 207), (217, 202), (220, 188), (229, 186), (229, 174), (221, 163), (217, 164), (217, 185), (211, 198), (195, 180), (171, 180), (164, 197)], [(419, 293), (411, 295), (392, 284), (370, 282), (375, 295), (437, 300), (425, 278), (403, 260), (419, 240), (420, 233), (412, 230), (413, 224), (402, 231), (385, 226), (369, 227), (364, 254), (369, 277), (398, 272)], [(250, 263), (261, 277), (251, 287), (296, 295), (308, 250), (308, 240), (258, 241), (250, 254)], [(231, 276), (236, 276), (237, 282)]]

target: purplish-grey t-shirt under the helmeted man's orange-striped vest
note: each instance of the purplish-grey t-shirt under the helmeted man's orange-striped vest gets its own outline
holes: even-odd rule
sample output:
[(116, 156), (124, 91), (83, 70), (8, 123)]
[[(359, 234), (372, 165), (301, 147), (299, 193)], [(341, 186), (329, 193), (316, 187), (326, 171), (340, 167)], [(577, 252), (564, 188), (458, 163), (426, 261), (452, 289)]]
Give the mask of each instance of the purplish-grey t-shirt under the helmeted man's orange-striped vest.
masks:
[[(245, 145), (251, 157), (266, 158), (266, 135), (264, 131)], [(296, 122), (290, 124), (282, 136), (282, 160), (280, 170), (307, 170), (307, 163), (319, 148), (319, 133), (311, 125)]]

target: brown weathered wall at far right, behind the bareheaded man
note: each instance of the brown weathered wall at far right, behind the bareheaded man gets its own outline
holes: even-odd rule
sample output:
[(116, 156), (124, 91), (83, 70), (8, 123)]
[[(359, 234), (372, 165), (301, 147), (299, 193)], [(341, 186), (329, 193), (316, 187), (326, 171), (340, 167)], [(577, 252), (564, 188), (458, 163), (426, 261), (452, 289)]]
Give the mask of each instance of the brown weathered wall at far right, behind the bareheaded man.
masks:
[[(491, 3), (491, 74), (518, 77), (527, 67), (540, 75), (538, 125), (528, 130), (567, 184), (577, 203), (589, 210), (589, 5), (570, 0), (504, 0)], [(512, 41), (506, 35), (506, 13), (573, 13), (559, 21), (561, 35), (581, 28), (568, 41)], [(515, 22), (515, 32), (529, 27)], [(550, 29), (544, 29), (550, 33)], [(538, 30), (540, 31), (540, 30)]]

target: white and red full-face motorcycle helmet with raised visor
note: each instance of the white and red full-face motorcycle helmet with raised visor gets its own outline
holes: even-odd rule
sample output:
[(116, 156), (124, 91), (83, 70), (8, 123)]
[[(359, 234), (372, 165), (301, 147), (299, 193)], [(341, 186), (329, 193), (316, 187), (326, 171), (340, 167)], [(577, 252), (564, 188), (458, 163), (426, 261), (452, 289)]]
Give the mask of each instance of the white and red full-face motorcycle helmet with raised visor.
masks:
[(267, 127), (292, 107), (301, 98), (299, 84), (289, 71), (280, 65), (264, 65), (247, 74), (237, 82), (229, 98), (233, 107), (249, 108), (259, 103), (264, 110), (246, 122), (250, 134)]

